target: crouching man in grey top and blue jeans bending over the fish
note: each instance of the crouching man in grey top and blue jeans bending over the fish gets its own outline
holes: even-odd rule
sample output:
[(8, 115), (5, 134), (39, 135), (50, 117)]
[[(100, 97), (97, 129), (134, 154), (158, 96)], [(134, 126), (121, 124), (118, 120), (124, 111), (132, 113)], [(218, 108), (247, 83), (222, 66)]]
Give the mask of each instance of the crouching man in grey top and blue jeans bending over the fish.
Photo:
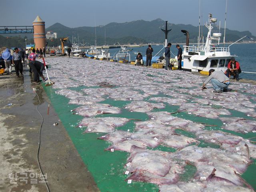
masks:
[(230, 79), (222, 71), (215, 71), (214, 69), (209, 70), (209, 77), (203, 83), (202, 88), (209, 81), (211, 81), (215, 93), (227, 92), (230, 85)]

